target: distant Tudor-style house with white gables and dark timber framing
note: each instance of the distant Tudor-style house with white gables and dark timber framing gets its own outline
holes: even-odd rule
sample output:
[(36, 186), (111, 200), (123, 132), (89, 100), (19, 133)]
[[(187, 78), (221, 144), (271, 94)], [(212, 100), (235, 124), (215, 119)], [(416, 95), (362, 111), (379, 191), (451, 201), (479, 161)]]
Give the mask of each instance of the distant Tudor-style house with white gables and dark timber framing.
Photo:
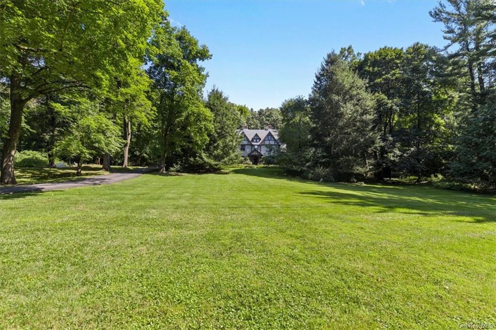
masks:
[(281, 150), (279, 132), (268, 125), (267, 129), (248, 129), (243, 126), (240, 130), (243, 136), (241, 141), (241, 155), (248, 157), (251, 163), (258, 164), (262, 156), (268, 156)]

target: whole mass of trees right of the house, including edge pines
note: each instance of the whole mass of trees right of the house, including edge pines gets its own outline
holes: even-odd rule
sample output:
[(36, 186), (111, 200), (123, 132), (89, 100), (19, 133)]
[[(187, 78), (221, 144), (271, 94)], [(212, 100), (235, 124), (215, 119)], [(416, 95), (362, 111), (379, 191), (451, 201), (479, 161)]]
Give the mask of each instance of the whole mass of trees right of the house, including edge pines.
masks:
[(496, 184), (496, 6), (440, 2), (445, 49), (329, 53), (308, 99), (283, 103), (281, 164), (316, 180), (444, 175)]

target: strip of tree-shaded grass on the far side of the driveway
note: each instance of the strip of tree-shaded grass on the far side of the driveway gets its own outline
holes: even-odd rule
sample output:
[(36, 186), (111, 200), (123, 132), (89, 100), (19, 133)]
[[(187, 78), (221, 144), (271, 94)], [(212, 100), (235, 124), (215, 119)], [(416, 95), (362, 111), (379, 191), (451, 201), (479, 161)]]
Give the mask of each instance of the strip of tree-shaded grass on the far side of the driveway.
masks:
[[(112, 172), (128, 171), (138, 167), (123, 168), (121, 166), (111, 166)], [(16, 167), (14, 170), (17, 184), (50, 183), (80, 180), (93, 175), (108, 174), (102, 170), (101, 165), (84, 165), (82, 175), (76, 175), (76, 167)]]

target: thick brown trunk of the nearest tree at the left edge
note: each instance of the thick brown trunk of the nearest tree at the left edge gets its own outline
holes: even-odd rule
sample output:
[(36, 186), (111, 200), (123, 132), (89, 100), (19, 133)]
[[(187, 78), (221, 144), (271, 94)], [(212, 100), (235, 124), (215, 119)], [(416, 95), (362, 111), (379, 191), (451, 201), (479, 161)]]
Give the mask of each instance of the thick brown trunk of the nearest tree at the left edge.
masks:
[(14, 176), (14, 155), (17, 141), (21, 133), (22, 111), (26, 100), (22, 100), (17, 87), (20, 84), (18, 77), (10, 77), (10, 122), (7, 138), (1, 153), (0, 184), (16, 184)]

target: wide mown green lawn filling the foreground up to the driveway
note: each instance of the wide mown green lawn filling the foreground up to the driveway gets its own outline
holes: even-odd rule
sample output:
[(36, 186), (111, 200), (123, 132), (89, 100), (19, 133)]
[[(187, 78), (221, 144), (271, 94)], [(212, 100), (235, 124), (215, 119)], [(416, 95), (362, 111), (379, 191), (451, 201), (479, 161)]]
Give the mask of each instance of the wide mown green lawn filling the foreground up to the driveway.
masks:
[(496, 325), (494, 196), (241, 168), (0, 198), (0, 328)]

